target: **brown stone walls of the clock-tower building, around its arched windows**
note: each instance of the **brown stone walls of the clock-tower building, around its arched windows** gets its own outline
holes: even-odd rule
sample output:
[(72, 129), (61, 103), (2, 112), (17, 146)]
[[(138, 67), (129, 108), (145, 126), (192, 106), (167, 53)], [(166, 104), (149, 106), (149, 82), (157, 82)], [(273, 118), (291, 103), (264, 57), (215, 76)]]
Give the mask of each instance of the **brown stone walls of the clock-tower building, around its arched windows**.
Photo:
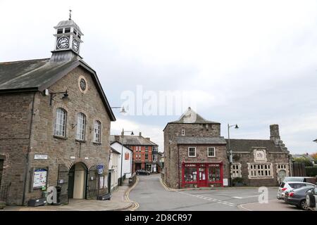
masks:
[[(84, 76), (87, 82), (87, 92), (80, 91), (79, 77)], [(58, 184), (58, 167), (70, 169), (75, 162), (84, 163), (89, 170), (89, 191), (87, 198), (95, 198), (98, 188), (97, 165), (104, 165), (104, 181), (107, 182), (108, 158), (110, 154), (110, 118), (106, 112), (99, 92), (91, 75), (78, 67), (68, 75), (49, 87), (49, 92), (68, 91), (68, 99), (63, 100), (63, 94), (55, 96), (50, 105), (50, 96), (42, 93), (35, 94), (35, 109), (30, 139), (30, 165), (27, 172), (27, 195), (25, 203), (30, 198), (42, 196), (40, 189), (30, 191), (32, 169), (48, 167), (47, 186)], [(28, 134), (30, 127), (30, 110), (32, 108), (32, 94), (15, 94), (0, 96), (0, 154), (6, 155), (4, 161), (5, 183), (11, 181), (10, 204), (21, 204), (23, 190), (23, 172), (28, 148)], [(67, 111), (66, 139), (54, 136), (54, 121), (56, 108)], [(85, 141), (76, 141), (77, 113), (86, 115)], [(94, 120), (101, 122), (101, 144), (93, 143)], [(4, 125), (3, 125), (4, 124)], [(5, 140), (4, 138), (8, 139)], [(17, 140), (15, 140), (17, 139)], [(14, 150), (20, 155), (8, 155)], [(48, 155), (47, 160), (34, 160), (35, 154)], [(72, 158), (71, 158), (72, 157)], [(92, 173), (93, 176), (92, 176)], [(63, 184), (63, 191), (67, 190), (67, 182)], [(4, 182), (1, 182), (4, 183)], [(108, 188), (101, 189), (99, 194), (107, 193)]]

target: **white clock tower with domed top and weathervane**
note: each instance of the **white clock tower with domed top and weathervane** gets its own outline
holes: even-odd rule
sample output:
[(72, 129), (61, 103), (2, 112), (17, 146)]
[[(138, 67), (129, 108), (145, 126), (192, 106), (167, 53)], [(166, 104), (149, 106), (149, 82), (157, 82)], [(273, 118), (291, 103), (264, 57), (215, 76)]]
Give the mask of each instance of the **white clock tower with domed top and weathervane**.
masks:
[(54, 28), (56, 30), (54, 34), (56, 39), (54, 51), (52, 51), (53, 55), (58, 55), (60, 60), (63, 55), (73, 56), (73, 53), (75, 53), (75, 55), (79, 56), (81, 38), (84, 34), (82, 34), (80, 27), (71, 19), (71, 14), (68, 20), (59, 22)]

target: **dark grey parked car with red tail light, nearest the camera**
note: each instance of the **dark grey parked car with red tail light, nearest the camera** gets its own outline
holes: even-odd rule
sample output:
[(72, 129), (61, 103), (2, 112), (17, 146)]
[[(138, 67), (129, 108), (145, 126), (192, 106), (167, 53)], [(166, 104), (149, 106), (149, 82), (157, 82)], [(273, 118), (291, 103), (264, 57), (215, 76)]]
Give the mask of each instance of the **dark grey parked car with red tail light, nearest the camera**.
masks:
[(302, 188), (293, 189), (290, 192), (285, 192), (285, 203), (295, 205), (302, 210), (309, 210), (306, 205), (306, 192), (313, 189), (313, 186), (304, 186)]

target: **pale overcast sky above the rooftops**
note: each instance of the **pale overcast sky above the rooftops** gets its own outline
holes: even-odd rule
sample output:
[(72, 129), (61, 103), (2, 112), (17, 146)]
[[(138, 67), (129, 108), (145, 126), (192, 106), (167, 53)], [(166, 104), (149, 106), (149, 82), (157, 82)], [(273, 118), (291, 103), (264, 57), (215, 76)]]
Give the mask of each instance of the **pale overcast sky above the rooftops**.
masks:
[[(80, 55), (112, 106), (123, 91), (189, 91), (197, 113), (235, 139), (269, 139), (291, 153), (317, 151), (316, 1), (4, 1), (0, 61), (49, 58), (54, 26), (73, 20)], [(187, 106), (183, 105), (185, 110)], [(163, 128), (180, 115), (120, 115), (111, 133), (142, 131), (163, 150)]]

